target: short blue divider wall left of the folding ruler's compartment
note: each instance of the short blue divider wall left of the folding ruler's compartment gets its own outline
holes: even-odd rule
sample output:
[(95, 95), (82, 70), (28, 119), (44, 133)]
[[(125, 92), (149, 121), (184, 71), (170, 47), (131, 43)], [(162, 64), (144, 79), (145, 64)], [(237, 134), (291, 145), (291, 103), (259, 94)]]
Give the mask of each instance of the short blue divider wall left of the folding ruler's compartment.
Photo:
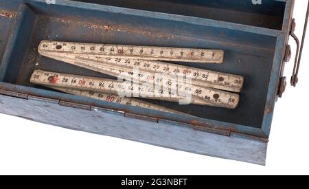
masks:
[[(8, 43), (3, 53), (0, 64), (0, 81), (14, 82), (16, 75), (12, 70), (18, 70), (16, 67), (21, 66), (21, 62), (27, 49), (32, 34), (36, 14), (26, 4), (21, 4), (16, 14), (16, 19), (11, 25)], [(10, 65), (10, 67), (9, 67)]]

